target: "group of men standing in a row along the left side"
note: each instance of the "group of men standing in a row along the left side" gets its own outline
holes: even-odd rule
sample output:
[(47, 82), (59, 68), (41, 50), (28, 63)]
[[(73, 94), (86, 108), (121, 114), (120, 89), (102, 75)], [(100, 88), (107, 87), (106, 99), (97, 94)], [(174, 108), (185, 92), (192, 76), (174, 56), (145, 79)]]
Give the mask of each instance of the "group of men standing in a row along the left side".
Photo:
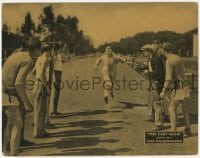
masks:
[[(5, 61), (2, 70), (3, 105), (3, 152), (17, 155), (20, 146), (33, 142), (24, 138), (24, 123), (27, 112), (34, 112), (33, 137), (48, 137), (46, 128), (51, 128), (49, 117), (57, 111), (62, 78), (62, 43), (40, 41), (30, 38), (25, 47), (13, 52)], [(26, 93), (26, 78), (35, 76), (31, 103)], [(33, 105), (34, 104), (34, 105)]]

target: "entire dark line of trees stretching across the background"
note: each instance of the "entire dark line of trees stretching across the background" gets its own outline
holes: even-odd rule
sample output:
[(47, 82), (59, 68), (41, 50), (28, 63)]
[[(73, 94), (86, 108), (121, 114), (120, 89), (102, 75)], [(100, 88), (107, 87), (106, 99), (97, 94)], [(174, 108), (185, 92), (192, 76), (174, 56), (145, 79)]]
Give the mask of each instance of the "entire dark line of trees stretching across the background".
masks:
[(43, 8), (37, 26), (35, 26), (30, 12), (25, 16), (24, 23), (21, 25), (21, 32), (17, 29), (16, 34), (9, 34), (9, 26), (4, 24), (2, 28), (2, 44), (4, 53), (5, 50), (13, 50), (22, 46), (24, 39), (27, 39), (24, 37), (33, 36), (35, 32), (38, 34), (49, 32), (46, 37), (48, 41), (61, 41), (62, 43), (66, 43), (69, 52), (75, 55), (84, 55), (96, 51), (104, 52), (105, 47), (108, 45), (110, 45), (115, 52), (124, 55), (138, 55), (143, 45), (150, 44), (154, 40), (159, 40), (161, 43), (166, 41), (171, 42), (174, 46), (174, 51), (182, 56), (191, 56), (193, 51), (193, 34), (197, 33), (197, 31), (198, 29), (195, 28), (182, 34), (173, 31), (140, 32), (134, 36), (121, 38), (119, 41), (111, 43), (105, 42), (96, 50), (93, 46), (92, 39), (86, 36), (83, 30), (79, 29), (79, 20), (76, 16), (56, 16), (53, 7), (49, 5)]

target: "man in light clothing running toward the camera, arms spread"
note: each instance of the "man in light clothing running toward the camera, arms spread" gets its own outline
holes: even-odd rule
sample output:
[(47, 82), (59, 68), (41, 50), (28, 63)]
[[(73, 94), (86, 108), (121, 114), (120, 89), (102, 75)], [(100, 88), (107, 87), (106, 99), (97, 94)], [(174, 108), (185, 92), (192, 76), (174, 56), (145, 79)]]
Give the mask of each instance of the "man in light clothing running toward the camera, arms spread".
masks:
[(104, 54), (99, 57), (95, 63), (95, 68), (98, 68), (100, 63), (103, 63), (103, 67), (101, 69), (103, 79), (104, 79), (104, 101), (108, 104), (108, 97), (113, 96), (114, 91), (114, 82), (117, 72), (117, 63), (118, 62), (126, 62), (126, 59), (116, 55), (112, 52), (110, 46), (105, 48)]

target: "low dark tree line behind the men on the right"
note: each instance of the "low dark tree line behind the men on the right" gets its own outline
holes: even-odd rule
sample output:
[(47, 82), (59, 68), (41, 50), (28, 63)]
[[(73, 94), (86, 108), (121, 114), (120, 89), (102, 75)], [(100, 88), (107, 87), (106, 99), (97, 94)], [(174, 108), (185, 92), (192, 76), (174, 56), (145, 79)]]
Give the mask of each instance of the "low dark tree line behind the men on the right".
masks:
[(119, 42), (104, 43), (97, 48), (97, 51), (103, 52), (107, 45), (110, 45), (114, 51), (122, 54), (138, 55), (140, 49), (145, 44), (151, 44), (154, 40), (163, 42), (171, 42), (174, 51), (179, 52), (182, 56), (192, 55), (193, 34), (197, 33), (197, 28), (180, 34), (173, 31), (159, 32), (142, 32), (132, 37), (122, 38)]

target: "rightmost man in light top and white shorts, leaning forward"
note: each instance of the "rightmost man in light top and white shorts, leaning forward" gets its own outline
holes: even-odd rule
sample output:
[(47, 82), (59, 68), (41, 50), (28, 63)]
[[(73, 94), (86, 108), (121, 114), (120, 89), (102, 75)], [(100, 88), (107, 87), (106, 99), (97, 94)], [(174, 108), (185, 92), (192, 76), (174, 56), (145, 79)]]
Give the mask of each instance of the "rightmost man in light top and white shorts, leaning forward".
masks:
[(184, 135), (191, 135), (190, 128), (190, 114), (189, 107), (186, 105), (189, 98), (189, 86), (185, 77), (184, 64), (181, 58), (173, 53), (172, 45), (169, 42), (162, 45), (164, 56), (166, 57), (166, 77), (165, 83), (160, 94), (161, 98), (164, 98), (167, 92), (171, 92), (171, 102), (169, 105), (171, 131), (176, 131), (177, 118), (176, 109), (179, 104), (183, 103), (183, 112), (185, 117), (186, 128), (184, 129)]

